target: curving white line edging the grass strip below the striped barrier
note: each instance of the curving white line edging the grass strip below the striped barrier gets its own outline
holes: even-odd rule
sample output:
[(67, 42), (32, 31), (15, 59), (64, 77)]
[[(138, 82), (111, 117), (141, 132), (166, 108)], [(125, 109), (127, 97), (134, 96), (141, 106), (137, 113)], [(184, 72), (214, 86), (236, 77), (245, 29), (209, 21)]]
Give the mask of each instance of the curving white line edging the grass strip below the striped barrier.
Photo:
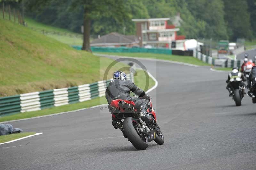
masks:
[[(155, 85), (152, 88), (148, 89), (148, 91), (146, 91), (146, 93), (149, 93), (150, 91), (152, 91), (153, 89), (155, 89), (158, 86), (158, 81), (156, 80), (156, 78), (152, 74), (149, 73), (149, 71), (147, 71), (147, 73), (155, 81)], [(92, 107), (87, 107), (87, 108), (82, 108), (82, 109), (77, 109), (77, 110), (71, 110), (71, 111), (67, 111), (67, 112), (48, 114), (48, 115), (43, 115), (43, 116), (36, 116), (36, 117), (32, 117), (32, 118), (24, 118), (24, 119), (18, 119), (18, 120), (9, 120), (9, 121), (0, 122), (0, 123), (9, 123), (9, 122), (22, 121), (22, 120), (44, 118), (44, 117), (48, 117), (48, 116), (55, 116), (55, 115), (59, 115), (59, 114), (66, 114), (66, 113), (70, 113), (70, 112), (77, 112), (77, 111), (81, 111), (81, 110), (92, 109), (92, 108), (96, 108), (96, 107), (100, 107), (100, 106), (106, 106), (106, 105), (108, 105), (108, 104), (100, 104), (100, 105), (96, 105), (96, 106), (92, 106)]]

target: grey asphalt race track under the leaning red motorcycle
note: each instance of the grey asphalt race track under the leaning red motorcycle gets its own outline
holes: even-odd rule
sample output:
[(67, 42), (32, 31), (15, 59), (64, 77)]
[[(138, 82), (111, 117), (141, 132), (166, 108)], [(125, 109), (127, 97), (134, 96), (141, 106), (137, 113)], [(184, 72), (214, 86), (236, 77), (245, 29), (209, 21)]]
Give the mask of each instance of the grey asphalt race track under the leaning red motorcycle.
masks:
[(256, 169), (256, 105), (235, 106), (228, 73), (140, 61), (159, 83), (149, 94), (164, 145), (137, 151), (93, 108), (12, 122), (43, 134), (0, 145), (0, 169)]

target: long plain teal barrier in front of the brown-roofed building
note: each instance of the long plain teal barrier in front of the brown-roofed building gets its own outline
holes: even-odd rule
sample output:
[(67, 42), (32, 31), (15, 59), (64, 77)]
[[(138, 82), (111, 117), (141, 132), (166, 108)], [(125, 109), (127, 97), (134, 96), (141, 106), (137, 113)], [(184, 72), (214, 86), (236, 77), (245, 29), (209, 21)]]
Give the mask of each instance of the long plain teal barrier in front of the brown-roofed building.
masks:
[[(73, 45), (73, 48), (81, 50), (81, 46)], [(171, 49), (167, 48), (127, 48), (127, 47), (91, 47), (92, 52), (143, 52), (157, 54), (172, 54)]]

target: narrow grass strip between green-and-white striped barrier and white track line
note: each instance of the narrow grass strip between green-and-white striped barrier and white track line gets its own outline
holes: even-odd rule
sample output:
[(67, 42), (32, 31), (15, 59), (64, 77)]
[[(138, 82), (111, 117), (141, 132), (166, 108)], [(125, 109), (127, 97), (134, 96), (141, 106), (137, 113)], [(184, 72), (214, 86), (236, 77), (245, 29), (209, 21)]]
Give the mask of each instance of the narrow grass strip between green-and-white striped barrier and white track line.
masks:
[[(142, 70), (136, 70), (136, 72), (137, 72), (137, 76), (134, 76), (134, 83), (136, 83), (136, 85), (140, 88), (145, 87), (145, 82), (146, 82), (145, 72)], [(152, 78), (150, 78), (149, 88), (153, 87), (154, 84), (155, 84), (155, 81)], [(143, 90), (147, 91), (148, 89), (143, 89)], [(81, 103), (69, 104), (69, 105), (64, 105), (59, 107), (52, 107), (52, 108), (44, 109), (40, 111), (25, 112), (25, 113), (14, 114), (11, 116), (0, 117), (0, 122), (31, 118), (31, 117), (49, 115), (49, 114), (60, 113), (60, 112), (67, 112), (67, 111), (88, 108), (88, 107), (92, 107), (100, 104), (106, 104), (106, 103), (107, 103), (106, 98), (105, 96), (103, 96), (103, 97), (98, 97), (98, 98), (81, 102)]]

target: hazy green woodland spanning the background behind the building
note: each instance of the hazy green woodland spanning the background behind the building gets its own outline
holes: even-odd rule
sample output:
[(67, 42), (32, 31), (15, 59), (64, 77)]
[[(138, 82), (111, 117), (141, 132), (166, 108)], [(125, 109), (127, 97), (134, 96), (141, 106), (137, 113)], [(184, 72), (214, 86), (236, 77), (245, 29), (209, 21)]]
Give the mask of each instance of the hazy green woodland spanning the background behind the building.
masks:
[[(0, 0), (1, 1), (1, 0)], [(5, 0), (6, 1), (6, 0)], [(10, 0), (9, 0), (10, 1)], [(15, 0), (21, 2), (22, 0)], [(256, 37), (256, 0), (23, 0), (25, 14), (37, 21), (89, 35), (116, 31), (135, 34), (132, 18), (165, 18), (180, 13), (179, 35), (186, 38)], [(172, 24), (172, 23), (170, 23)], [(88, 35), (89, 34), (89, 35)], [(87, 44), (87, 47), (84, 45)], [(83, 45), (89, 50), (89, 42)]]

